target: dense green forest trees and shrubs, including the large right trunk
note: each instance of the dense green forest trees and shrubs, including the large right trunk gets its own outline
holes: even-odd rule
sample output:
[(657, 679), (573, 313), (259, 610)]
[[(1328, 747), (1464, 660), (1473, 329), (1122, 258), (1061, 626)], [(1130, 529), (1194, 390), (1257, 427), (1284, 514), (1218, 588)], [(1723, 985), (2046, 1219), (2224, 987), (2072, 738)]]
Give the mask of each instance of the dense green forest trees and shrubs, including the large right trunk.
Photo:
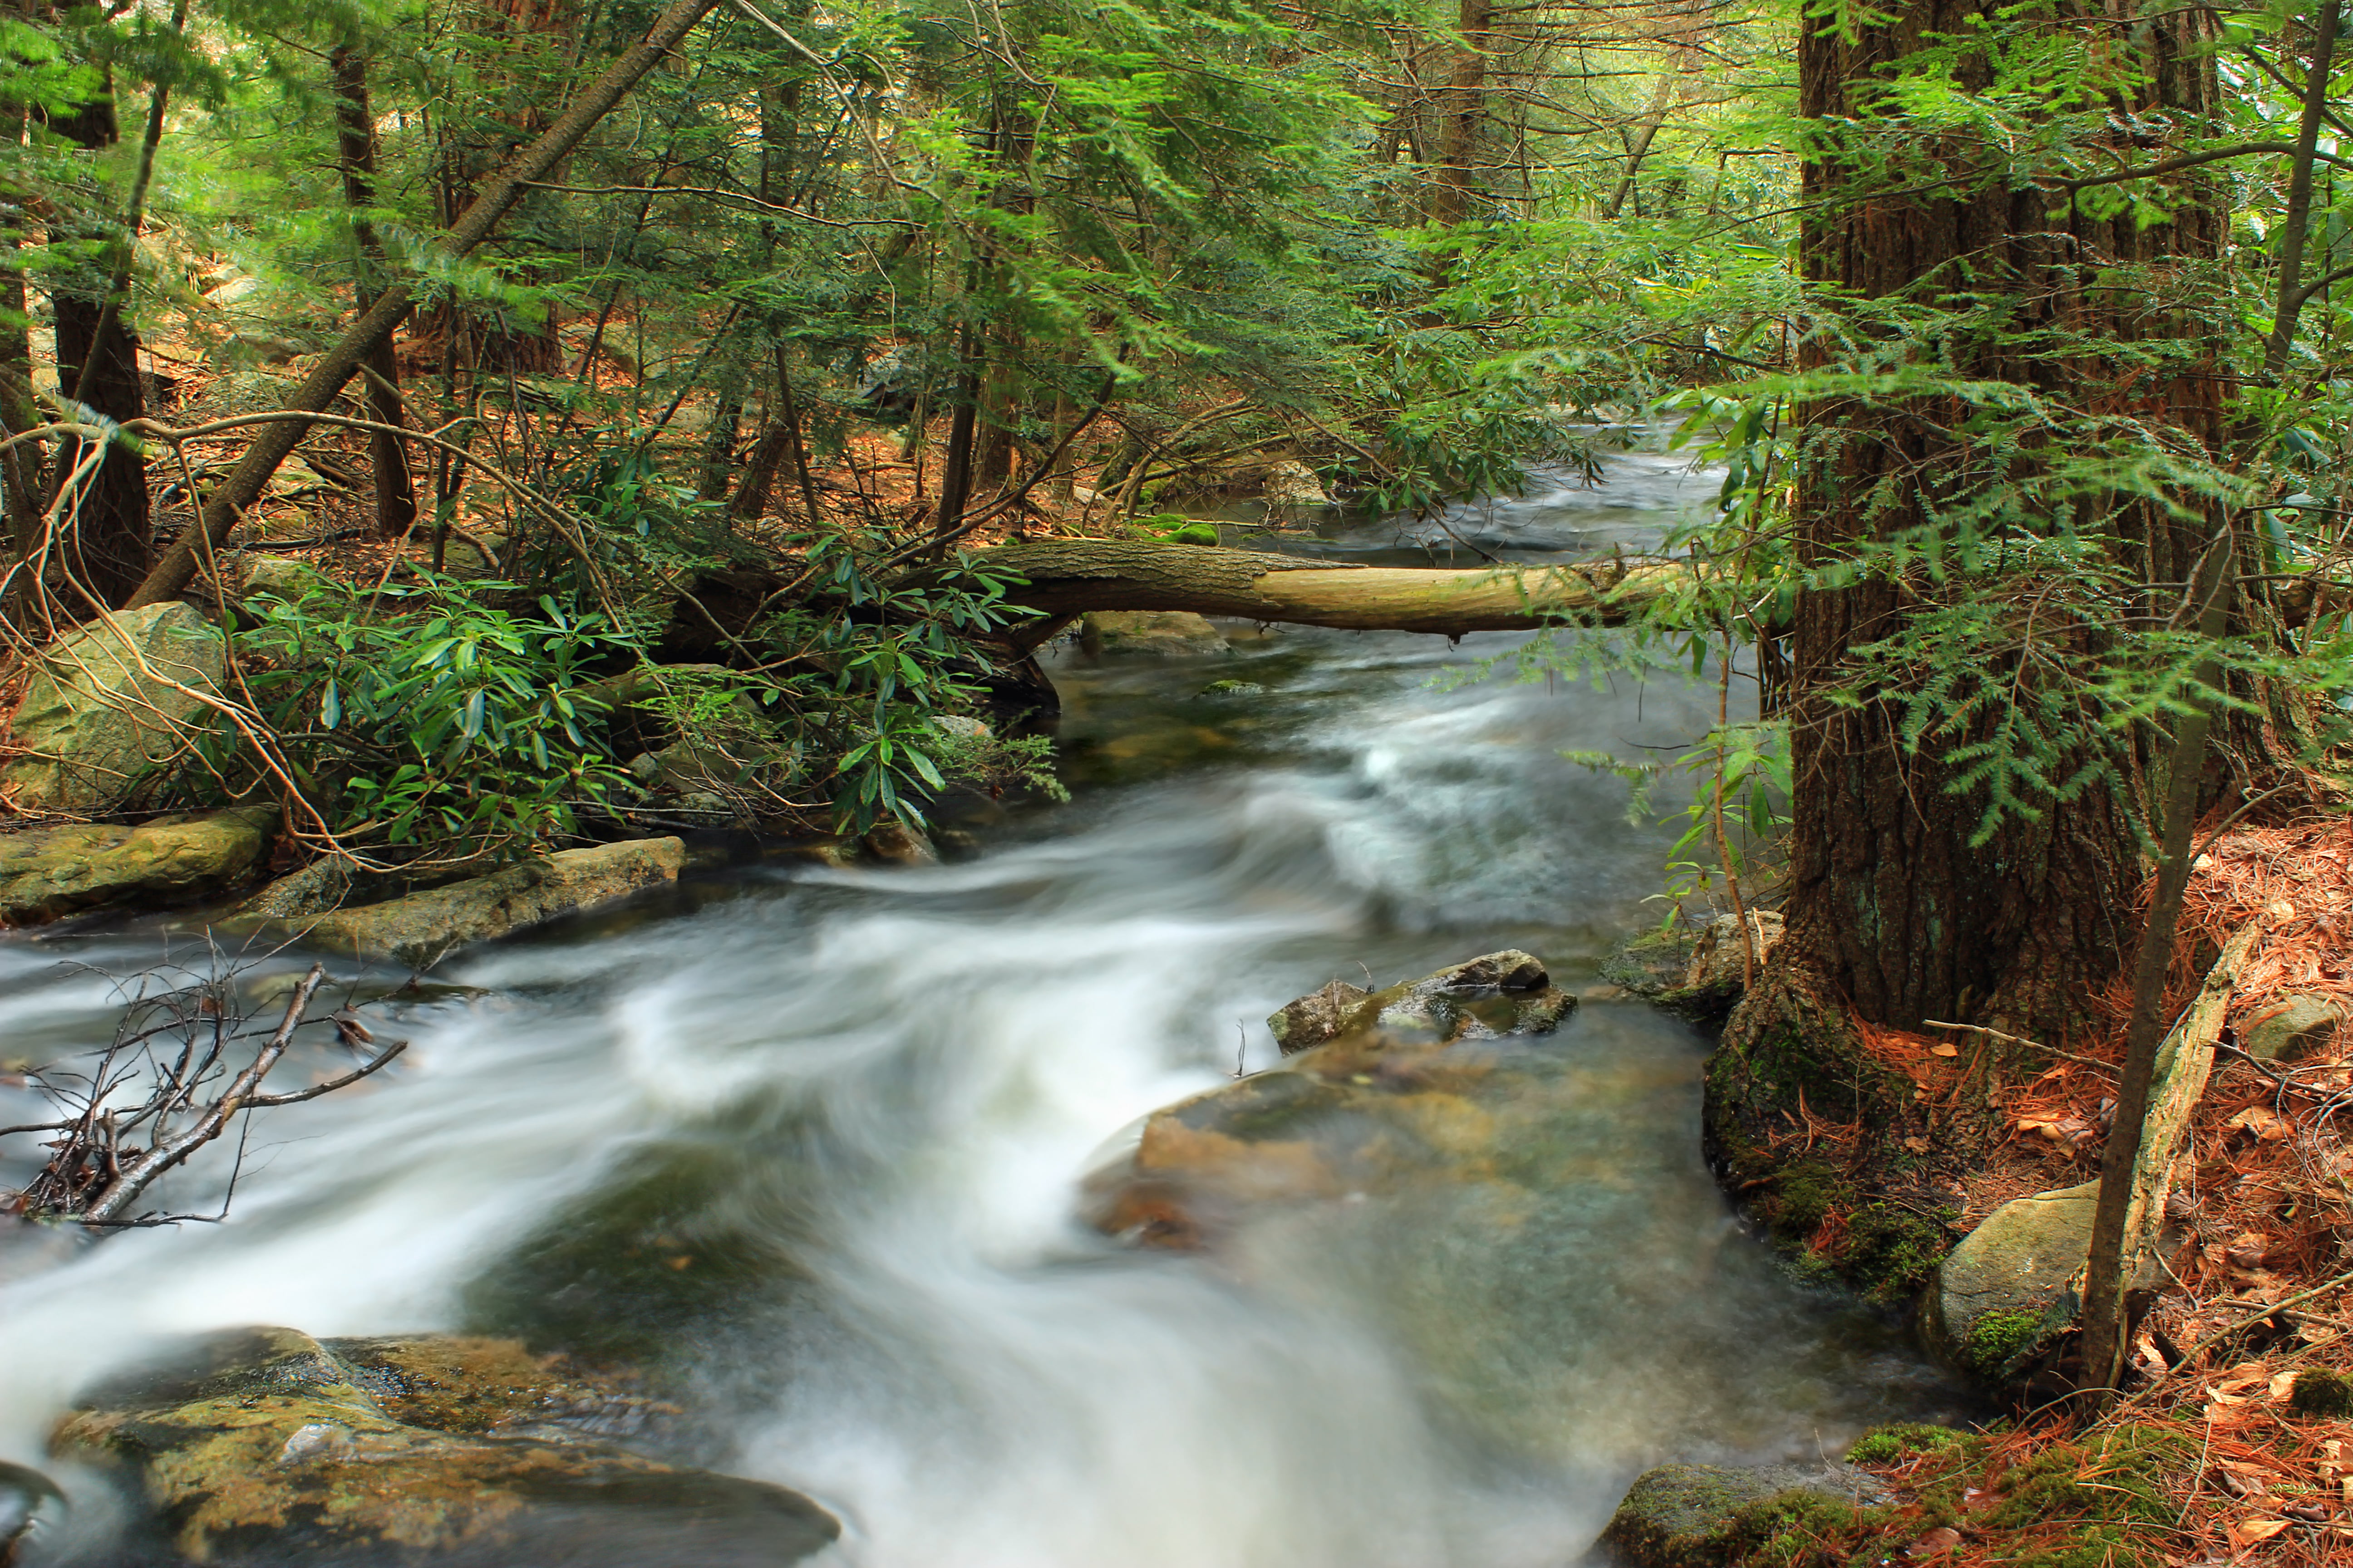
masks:
[[(1788, 827), (1866, 1013), (2066, 1027), (2198, 693), (2200, 806), (2337, 741), (2337, 26), (24, 5), (12, 639), (247, 592), (174, 788), (315, 849), (579, 832), (649, 724), (864, 827), (1038, 776), (932, 726), (1061, 630), (984, 545), (1188, 538), (1278, 461), (1428, 508), (1680, 421), (1729, 463), (1685, 571), (1522, 658), (1753, 649), (1699, 882)], [(249, 588), (273, 552), (315, 571)]]

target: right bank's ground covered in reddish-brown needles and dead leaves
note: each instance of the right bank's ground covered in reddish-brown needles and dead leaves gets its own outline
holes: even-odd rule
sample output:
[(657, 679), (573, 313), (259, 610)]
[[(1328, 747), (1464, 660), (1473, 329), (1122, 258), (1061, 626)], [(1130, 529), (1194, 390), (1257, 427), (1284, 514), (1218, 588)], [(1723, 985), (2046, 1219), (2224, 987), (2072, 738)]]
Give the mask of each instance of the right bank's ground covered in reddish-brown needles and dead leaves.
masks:
[[(1965, 1446), (1882, 1441), (1868, 1467), (1904, 1505), (1861, 1530), (1817, 1523), (1828, 1561), (2353, 1563), (2353, 1406), (2297, 1408), (2329, 1375), (2353, 1378), (2353, 1027), (2294, 1063), (2228, 1048), (2287, 997), (2353, 1018), (2353, 823), (2235, 827), (2200, 856), (2172, 1016), (2247, 922), (2264, 936), (2191, 1128), (2195, 1237), (2132, 1342), (2127, 1396), (2097, 1422), (2045, 1408)], [(1965, 1225), (2099, 1175), (2129, 1006), (2120, 978), (2101, 1039), (1995, 1091), (2002, 1140), (1965, 1180)], [(1981, 1048), (1962, 1032), (1868, 1030), (1866, 1044), (1927, 1095), (1955, 1093)]]

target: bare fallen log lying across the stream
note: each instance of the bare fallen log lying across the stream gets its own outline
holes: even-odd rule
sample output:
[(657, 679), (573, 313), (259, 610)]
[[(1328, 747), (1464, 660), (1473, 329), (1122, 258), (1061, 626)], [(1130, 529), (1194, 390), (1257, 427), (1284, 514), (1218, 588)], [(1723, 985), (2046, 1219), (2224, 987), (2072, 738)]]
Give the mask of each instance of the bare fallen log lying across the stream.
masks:
[(1132, 538), (998, 545), (974, 559), (1024, 578), (1007, 599), (1068, 616), (1188, 609), (1198, 616), (1334, 625), (1355, 632), (1525, 632), (1560, 621), (1614, 625), (1689, 581), (1680, 564), (1362, 567), (1266, 550)]

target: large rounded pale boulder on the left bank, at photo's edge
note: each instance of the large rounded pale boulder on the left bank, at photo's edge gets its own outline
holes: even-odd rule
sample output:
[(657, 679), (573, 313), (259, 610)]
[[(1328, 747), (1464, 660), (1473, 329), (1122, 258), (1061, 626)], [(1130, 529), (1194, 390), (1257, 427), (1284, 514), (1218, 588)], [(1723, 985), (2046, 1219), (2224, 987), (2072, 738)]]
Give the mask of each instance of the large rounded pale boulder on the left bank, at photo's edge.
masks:
[(181, 602), (115, 611), (35, 656), (9, 726), (31, 755), (0, 769), (26, 811), (104, 816), (169, 780), (188, 738), (214, 722), (205, 693), (228, 672), (228, 644)]

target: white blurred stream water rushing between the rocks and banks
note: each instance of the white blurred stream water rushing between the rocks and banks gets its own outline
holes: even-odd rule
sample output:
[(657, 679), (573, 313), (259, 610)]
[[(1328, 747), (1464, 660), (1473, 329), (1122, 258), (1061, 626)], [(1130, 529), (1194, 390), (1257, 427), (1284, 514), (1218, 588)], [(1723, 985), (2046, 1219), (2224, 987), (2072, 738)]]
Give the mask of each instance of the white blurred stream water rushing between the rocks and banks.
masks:
[[(1449, 522), (1591, 550), (1708, 489), (1654, 456), (1612, 477)], [(42, 1462), (73, 1389), (167, 1335), (468, 1328), (656, 1368), (694, 1458), (842, 1516), (826, 1561), (1558, 1568), (1645, 1465), (1835, 1458), (1946, 1401), (1739, 1232), (1699, 1154), (1704, 1046), (1638, 1004), (1532, 1046), (1572, 1175), (1525, 1204), (1282, 1206), (1195, 1255), (1078, 1222), (1106, 1140), (1268, 1065), (1259, 1020), (1327, 978), (1515, 945), (1591, 985), (1668, 835), (1560, 752), (1713, 717), (1680, 684), (1435, 684), (1515, 637), (1235, 630), (1056, 663), (1068, 806), (939, 867), (734, 870), (478, 950), (369, 1006), (414, 1041), (384, 1079), (266, 1112), (226, 1225), (16, 1237), (0, 1460)], [(1200, 696), (1228, 677), (1264, 691)], [(0, 1056), (94, 1044), (155, 954), (0, 945)], [(0, 1091), (0, 1121), (28, 1107)], [(169, 1201), (216, 1204), (224, 1164)]]

